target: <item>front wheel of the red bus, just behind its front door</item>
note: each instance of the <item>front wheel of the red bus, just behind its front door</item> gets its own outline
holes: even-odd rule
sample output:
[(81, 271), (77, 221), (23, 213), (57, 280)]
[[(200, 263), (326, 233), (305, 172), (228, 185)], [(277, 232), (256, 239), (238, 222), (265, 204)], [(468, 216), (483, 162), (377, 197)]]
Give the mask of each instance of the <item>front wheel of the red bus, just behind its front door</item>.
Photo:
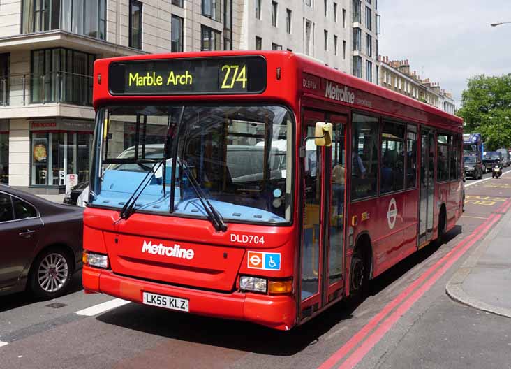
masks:
[(369, 277), (371, 270), (371, 247), (367, 240), (355, 247), (350, 265), (350, 296), (361, 300), (369, 291)]

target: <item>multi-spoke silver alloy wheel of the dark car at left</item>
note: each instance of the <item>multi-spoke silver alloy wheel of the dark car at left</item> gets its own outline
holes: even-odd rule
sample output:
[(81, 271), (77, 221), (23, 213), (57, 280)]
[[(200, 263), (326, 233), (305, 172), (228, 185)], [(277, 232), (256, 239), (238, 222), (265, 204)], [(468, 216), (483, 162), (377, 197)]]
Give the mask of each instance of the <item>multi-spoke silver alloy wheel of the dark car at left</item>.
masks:
[(68, 263), (62, 254), (47, 255), (39, 264), (38, 282), (46, 292), (56, 292), (61, 289), (68, 279)]

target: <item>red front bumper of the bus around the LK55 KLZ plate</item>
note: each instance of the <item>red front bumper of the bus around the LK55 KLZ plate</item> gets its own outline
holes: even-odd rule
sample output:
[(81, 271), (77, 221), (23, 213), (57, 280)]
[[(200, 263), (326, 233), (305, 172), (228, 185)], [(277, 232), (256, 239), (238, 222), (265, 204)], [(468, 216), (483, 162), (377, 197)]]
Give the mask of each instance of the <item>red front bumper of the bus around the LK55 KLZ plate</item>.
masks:
[(89, 266), (83, 268), (82, 282), (84, 291), (89, 294), (101, 292), (135, 303), (142, 303), (143, 292), (186, 298), (190, 314), (251, 321), (281, 331), (292, 328), (296, 321), (296, 303), (292, 296), (203, 291), (142, 281)]

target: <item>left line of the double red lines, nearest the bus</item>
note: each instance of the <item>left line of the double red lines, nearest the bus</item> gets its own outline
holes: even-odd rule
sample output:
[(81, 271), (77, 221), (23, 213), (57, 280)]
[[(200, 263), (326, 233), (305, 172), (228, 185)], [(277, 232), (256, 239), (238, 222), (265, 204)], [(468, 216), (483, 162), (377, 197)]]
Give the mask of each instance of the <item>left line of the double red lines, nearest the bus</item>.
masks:
[[(499, 206), (499, 208), (496, 210), (496, 212), (503, 209), (505, 206), (508, 208), (510, 205), (511, 205), (511, 200), (508, 199), (508, 201), (505, 201), (505, 203), (503, 203), (501, 206)], [(428, 270), (426, 270), (419, 278), (417, 278), (417, 280), (415, 280), (415, 282), (410, 284), (403, 292), (401, 292), (401, 294), (399, 294), (396, 298), (394, 298), (393, 301), (391, 301), (390, 303), (385, 305), (385, 307), (383, 307), (383, 309), (380, 310), (380, 312), (378, 312), (378, 314), (376, 314), (376, 316), (373, 317), (373, 319), (371, 319), (371, 321), (369, 321), (368, 324), (366, 324), (360, 331), (358, 331), (352, 338), (350, 338), (350, 340), (348, 340), (348, 342), (346, 342), (337, 352), (335, 352), (332, 356), (330, 356), (329, 359), (327, 359), (327, 361), (325, 361), (323, 364), (321, 364), (321, 366), (319, 366), (318, 369), (332, 368), (332, 366), (334, 366), (337, 362), (341, 361), (341, 359), (343, 359), (346, 356), (346, 354), (348, 354), (348, 352), (350, 352), (356, 345), (358, 345), (366, 337), (366, 335), (369, 332), (371, 332), (373, 330), (373, 328), (376, 327), (380, 323), (380, 321), (383, 318), (385, 318), (387, 316), (387, 314), (392, 309), (394, 309), (394, 307), (399, 305), (399, 303), (401, 303), (405, 298), (407, 298), (419, 284), (424, 282), (424, 280), (426, 280), (427, 277), (429, 277), (429, 275), (431, 275), (431, 273), (433, 273), (440, 266), (440, 264), (442, 264), (445, 261), (447, 261), (448, 259), (450, 259), (450, 257), (453, 256), (459, 249), (464, 247), (464, 245), (466, 243), (469, 243), (470, 245), (464, 247), (463, 252), (460, 252), (459, 255), (457, 255), (457, 257), (455, 257), (453, 259), (452, 263), (454, 263), (454, 261), (459, 259), (459, 257), (462, 254), (464, 254), (466, 252), (466, 250), (469, 247), (471, 247), (473, 245), (473, 243), (475, 243), (476, 240), (480, 239), (484, 235), (484, 233), (486, 233), (486, 231), (489, 229), (489, 226), (494, 224), (494, 219), (496, 217), (500, 218), (501, 216), (491, 214), (488, 217), (488, 219), (485, 222), (483, 222), (482, 224), (480, 224), (480, 226), (477, 226), (477, 228), (469, 236), (467, 236), (464, 240), (461, 240), (461, 242), (457, 246), (455, 246), (450, 252), (445, 254), (445, 256), (443, 256), (442, 259), (440, 259), (436, 263), (434, 263), (433, 266), (431, 266)], [(495, 222), (496, 222), (496, 220), (495, 220)], [(483, 230), (483, 232), (480, 233), (480, 231), (482, 229), (484, 229), (484, 230)], [(479, 235), (477, 235), (477, 233), (479, 233)], [(475, 237), (475, 239), (473, 240), (473, 242), (471, 242), (473, 237)], [(449, 265), (452, 265), (452, 263), (449, 261)], [(442, 268), (441, 269), (442, 273), (440, 275), (443, 275), (443, 273), (445, 273), (445, 270), (447, 270), (447, 268), (445, 268), (445, 269)], [(438, 272), (438, 273), (440, 273), (440, 272)], [(438, 275), (438, 277), (440, 277), (440, 275)], [(436, 277), (435, 281), (438, 280), (438, 277)], [(432, 279), (434, 279), (434, 278), (435, 277), (433, 277)], [(428, 289), (429, 289), (429, 287), (428, 287)], [(422, 294), (424, 294), (425, 291), (427, 291), (427, 290), (424, 290), (422, 292)], [(422, 296), (422, 294), (420, 294), (420, 296)], [(415, 296), (415, 294), (413, 296)], [(417, 297), (417, 299), (418, 299), (418, 297)], [(410, 300), (411, 300), (411, 298), (410, 298)], [(411, 307), (411, 305), (410, 305), (410, 307)], [(391, 326), (392, 326), (392, 324), (391, 324)], [(390, 326), (389, 326), (389, 328), (390, 328)], [(385, 331), (385, 333), (386, 333), (386, 331)], [(371, 335), (371, 337), (372, 337), (372, 335)], [(374, 342), (374, 344), (376, 344), (376, 342)], [(371, 347), (373, 345), (371, 345)], [(371, 347), (369, 347), (369, 349), (371, 349)], [(360, 350), (360, 348), (357, 349), (357, 351)], [(362, 357), (360, 357), (360, 359), (362, 359)], [(360, 361), (360, 359), (359, 359), (359, 361)]]

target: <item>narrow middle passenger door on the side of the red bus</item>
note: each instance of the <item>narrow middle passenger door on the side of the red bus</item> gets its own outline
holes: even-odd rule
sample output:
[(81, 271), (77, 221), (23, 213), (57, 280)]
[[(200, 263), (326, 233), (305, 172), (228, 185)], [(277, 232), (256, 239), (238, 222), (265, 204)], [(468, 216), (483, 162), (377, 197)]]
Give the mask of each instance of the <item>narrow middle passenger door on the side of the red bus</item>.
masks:
[(431, 129), (421, 130), (420, 203), (418, 247), (424, 247), (433, 236), (436, 140)]

